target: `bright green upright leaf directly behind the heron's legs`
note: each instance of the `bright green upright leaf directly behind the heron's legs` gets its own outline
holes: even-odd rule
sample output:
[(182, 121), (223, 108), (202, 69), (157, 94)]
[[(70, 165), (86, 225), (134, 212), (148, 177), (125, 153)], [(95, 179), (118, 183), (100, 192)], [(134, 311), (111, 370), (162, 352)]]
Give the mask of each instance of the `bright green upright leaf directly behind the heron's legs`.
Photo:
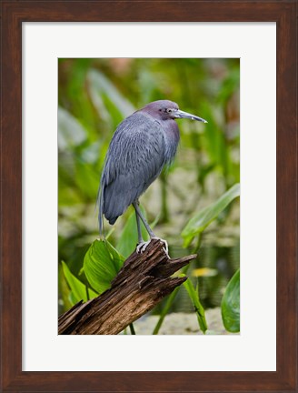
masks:
[[(141, 210), (145, 217), (144, 208), (141, 207)], [(142, 224), (142, 235), (144, 240), (148, 240), (149, 237), (143, 224)], [(118, 240), (116, 248), (124, 257), (129, 257), (134, 251), (136, 244), (137, 244), (137, 227), (136, 227), (135, 213), (133, 211), (126, 221), (126, 224), (122, 231), (121, 237)]]

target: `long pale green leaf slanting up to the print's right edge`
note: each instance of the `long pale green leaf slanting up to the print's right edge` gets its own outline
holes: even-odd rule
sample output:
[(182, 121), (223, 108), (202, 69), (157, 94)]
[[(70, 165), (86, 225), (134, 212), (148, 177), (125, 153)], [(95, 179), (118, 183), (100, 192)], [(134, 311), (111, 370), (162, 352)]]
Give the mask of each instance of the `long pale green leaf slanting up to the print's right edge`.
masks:
[(233, 185), (228, 191), (224, 193), (216, 202), (209, 207), (205, 207), (193, 218), (191, 218), (184, 230), (182, 231), (182, 237), (184, 237), (184, 247), (191, 244), (196, 235), (200, 235), (205, 227), (208, 227), (212, 221), (227, 207), (233, 199), (240, 196), (240, 185), (239, 183)]

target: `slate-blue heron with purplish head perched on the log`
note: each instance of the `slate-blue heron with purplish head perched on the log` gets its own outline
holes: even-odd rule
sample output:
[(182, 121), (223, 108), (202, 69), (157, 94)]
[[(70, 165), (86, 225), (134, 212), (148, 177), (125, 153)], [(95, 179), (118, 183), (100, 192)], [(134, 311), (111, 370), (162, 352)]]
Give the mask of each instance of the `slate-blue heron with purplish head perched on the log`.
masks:
[[(114, 225), (127, 207), (133, 205), (137, 227), (137, 253), (143, 253), (154, 238), (164, 243), (168, 255), (167, 242), (156, 237), (147, 223), (140, 207), (139, 197), (161, 174), (164, 166), (174, 161), (180, 132), (176, 119), (188, 118), (207, 123), (204, 118), (179, 109), (169, 100), (151, 102), (127, 116), (114, 131), (108, 147), (98, 193), (99, 232), (104, 237), (104, 217)], [(141, 221), (149, 234), (145, 242), (141, 231)]]

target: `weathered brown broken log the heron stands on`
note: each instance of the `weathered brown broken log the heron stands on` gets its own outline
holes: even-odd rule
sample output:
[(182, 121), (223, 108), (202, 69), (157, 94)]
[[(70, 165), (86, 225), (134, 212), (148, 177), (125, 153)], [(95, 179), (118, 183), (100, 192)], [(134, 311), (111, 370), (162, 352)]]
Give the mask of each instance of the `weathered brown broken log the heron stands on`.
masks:
[(125, 260), (102, 295), (80, 301), (59, 317), (59, 334), (118, 334), (180, 286), (187, 277), (170, 276), (195, 257), (169, 259), (164, 243), (152, 240), (143, 254), (134, 252)]

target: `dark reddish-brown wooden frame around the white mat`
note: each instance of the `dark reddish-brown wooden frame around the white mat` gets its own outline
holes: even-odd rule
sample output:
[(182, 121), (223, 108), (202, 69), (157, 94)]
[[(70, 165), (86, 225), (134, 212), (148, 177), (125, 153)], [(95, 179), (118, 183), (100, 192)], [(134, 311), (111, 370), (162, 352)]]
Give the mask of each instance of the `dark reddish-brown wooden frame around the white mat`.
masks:
[[(113, 3), (113, 4), (112, 4)], [(298, 391), (295, 0), (2, 0), (1, 384), (3, 391)], [(22, 22), (277, 23), (277, 371), (22, 371)], [(257, 86), (256, 86), (257, 88)], [(253, 247), (253, 245), (252, 245)]]

